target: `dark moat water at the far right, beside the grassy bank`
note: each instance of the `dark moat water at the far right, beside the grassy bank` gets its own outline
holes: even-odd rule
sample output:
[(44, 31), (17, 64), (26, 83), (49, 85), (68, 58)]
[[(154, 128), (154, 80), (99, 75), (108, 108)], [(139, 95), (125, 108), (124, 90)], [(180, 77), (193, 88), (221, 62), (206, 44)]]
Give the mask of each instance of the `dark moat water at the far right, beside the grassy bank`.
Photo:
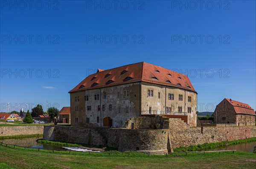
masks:
[(206, 149), (203, 151), (237, 150), (242, 152), (253, 152), (253, 149), (255, 146), (256, 146), (256, 142), (250, 142), (250, 143), (241, 143), (241, 144), (235, 144), (230, 146), (221, 146), (213, 149)]

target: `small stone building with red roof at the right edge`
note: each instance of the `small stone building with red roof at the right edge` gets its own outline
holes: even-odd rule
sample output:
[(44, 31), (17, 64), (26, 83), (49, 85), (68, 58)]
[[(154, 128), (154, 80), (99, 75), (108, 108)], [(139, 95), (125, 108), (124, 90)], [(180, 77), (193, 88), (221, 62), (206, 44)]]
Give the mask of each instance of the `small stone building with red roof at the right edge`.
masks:
[(225, 98), (216, 106), (213, 116), (214, 123), (254, 126), (256, 114), (248, 104)]

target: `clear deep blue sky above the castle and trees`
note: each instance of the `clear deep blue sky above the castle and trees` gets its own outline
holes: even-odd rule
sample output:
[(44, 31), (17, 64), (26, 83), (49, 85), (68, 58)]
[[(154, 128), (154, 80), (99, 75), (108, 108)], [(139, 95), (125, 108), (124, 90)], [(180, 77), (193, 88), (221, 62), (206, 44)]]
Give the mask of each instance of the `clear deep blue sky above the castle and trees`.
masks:
[(90, 72), (141, 61), (187, 74), (200, 112), (225, 97), (256, 108), (253, 0), (22, 2), (0, 1), (0, 112), (70, 106)]

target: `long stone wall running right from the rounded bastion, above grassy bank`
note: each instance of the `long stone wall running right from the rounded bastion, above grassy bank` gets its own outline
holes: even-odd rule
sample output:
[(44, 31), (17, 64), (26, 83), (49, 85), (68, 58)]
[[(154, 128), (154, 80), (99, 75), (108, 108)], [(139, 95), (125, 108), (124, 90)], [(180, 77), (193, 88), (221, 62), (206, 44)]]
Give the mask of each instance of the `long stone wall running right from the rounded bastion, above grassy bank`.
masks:
[(256, 137), (256, 126), (202, 126), (189, 127), (180, 119), (170, 118), (169, 135), (172, 148), (239, 140)]

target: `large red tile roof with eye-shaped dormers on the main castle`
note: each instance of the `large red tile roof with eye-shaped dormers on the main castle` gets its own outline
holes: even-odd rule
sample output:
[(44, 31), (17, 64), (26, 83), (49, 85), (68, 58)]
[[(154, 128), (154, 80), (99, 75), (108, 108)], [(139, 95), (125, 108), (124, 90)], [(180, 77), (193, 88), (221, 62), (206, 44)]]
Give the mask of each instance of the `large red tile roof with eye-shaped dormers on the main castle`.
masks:
[(186, 75), (160, 66), (140, 62), (113, 69), (97, 71), (97, 73), (91, 74), (82, 80), (70, 91), (70, 93), (141, 81), (173, 86), (195, 92), (195, 89)]

